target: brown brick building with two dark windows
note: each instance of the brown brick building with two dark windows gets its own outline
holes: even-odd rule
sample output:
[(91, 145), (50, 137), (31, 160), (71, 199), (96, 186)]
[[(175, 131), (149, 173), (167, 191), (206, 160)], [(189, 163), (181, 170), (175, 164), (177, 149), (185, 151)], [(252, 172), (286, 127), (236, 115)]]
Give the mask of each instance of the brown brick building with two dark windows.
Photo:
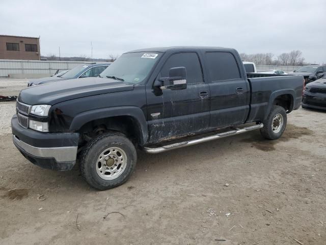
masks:
[(40, 60), (40, 38), (0, 35), (0, 59)]

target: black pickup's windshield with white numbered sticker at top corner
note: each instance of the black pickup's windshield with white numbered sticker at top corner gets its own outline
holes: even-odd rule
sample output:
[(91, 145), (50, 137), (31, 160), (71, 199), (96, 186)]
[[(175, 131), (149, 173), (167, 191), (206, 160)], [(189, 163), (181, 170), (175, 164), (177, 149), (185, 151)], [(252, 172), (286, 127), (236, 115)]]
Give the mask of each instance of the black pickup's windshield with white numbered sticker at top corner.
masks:
[(121, 55), (100, 76), (123, 80), (125, 83), (140, 84), (148, 76), (161, 53), (139, 52)]

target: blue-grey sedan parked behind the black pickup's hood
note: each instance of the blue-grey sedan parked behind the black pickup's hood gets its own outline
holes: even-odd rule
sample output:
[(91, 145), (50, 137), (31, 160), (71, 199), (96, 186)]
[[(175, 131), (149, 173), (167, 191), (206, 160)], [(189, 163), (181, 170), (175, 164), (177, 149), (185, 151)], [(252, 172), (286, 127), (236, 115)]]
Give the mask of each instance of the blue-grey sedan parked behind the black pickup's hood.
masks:
[(102, 64), (92, 63), (92, 64), (78, 65), (75, 68), (68, 70), (65, 74), (61, 75), (60, 77), (53, 76), (49, 78), (33, 79), (28, 82), (28, 87), (34, 85), (40, 85), (44, 83), (60, 81), (60, 80), (97, 77), (109, 65), (110, 63), (102, 63)]

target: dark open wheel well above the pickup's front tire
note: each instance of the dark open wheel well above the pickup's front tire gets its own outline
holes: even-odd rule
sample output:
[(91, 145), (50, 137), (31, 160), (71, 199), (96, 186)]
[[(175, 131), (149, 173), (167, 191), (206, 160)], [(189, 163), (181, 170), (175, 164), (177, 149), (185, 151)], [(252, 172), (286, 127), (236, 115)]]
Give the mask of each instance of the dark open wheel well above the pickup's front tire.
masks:
[(134, 144), (143, 144), (143, 134), (139, 122), (132, 116), (113, 116), (95, 119), (87, 122), (79, 130), (80, 140), (90, 139), (106, 133), (120, 132), (127, 136)]

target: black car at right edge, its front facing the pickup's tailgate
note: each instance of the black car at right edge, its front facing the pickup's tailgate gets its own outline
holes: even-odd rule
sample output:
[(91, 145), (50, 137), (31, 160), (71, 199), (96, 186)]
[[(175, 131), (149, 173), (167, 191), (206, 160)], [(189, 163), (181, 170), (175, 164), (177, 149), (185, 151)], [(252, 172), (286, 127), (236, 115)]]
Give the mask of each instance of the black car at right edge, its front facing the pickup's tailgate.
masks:
[(301, 106), (326, 110), (326, 75), (306, 86)]

